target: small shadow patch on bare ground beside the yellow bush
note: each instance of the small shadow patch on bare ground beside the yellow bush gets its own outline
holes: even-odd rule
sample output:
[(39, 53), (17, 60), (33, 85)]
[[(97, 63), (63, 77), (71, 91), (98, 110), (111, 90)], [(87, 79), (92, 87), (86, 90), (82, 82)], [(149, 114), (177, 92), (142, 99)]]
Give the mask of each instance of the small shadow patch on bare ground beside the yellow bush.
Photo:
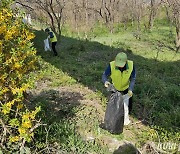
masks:
[(43, 91), (37, 96), (32, 96), (31, 102), (42, 108), (43, 123), (59, 122), (64, 118), (73, 118), (76, 108), (82, 99), (80, 93), (70, 91)]

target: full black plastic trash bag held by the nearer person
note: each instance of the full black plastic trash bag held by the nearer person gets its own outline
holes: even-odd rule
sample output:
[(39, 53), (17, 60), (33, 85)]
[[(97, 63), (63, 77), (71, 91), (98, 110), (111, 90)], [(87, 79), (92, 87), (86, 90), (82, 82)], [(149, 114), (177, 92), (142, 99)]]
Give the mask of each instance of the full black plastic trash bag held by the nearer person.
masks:
[(104, 129), (112, 134), (120, 134), (124, 127), (124, 102), (123, 96), (113, 85), (109, 85), (108, 91), (112, 92), (108, 101), (105, 118)]

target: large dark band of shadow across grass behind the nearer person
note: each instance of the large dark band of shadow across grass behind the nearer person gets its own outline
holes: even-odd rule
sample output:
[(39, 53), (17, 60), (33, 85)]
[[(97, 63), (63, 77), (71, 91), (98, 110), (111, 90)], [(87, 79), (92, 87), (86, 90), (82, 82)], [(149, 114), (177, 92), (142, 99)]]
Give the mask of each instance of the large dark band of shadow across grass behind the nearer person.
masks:
[[(43, 31), (35, 31), (35, 47), (46, 62), (66, 72), (77, 82), (106, 96), (101, 76), (105, 68), (120, 51), (126, 52), (137, 69), (134, 90), (134, 117), (143, 119), (146, 124), (156, 125), (171, 132), (179, 131), (180, 126), (180, 61), (161, 62), (134, 55), (123, 47), (111, 47), (88, 40), (70, 37), (61, 38), (57, 45), (59, 56), (45, 52)], [(161, 130), (162, 131), (162, 130)]]

